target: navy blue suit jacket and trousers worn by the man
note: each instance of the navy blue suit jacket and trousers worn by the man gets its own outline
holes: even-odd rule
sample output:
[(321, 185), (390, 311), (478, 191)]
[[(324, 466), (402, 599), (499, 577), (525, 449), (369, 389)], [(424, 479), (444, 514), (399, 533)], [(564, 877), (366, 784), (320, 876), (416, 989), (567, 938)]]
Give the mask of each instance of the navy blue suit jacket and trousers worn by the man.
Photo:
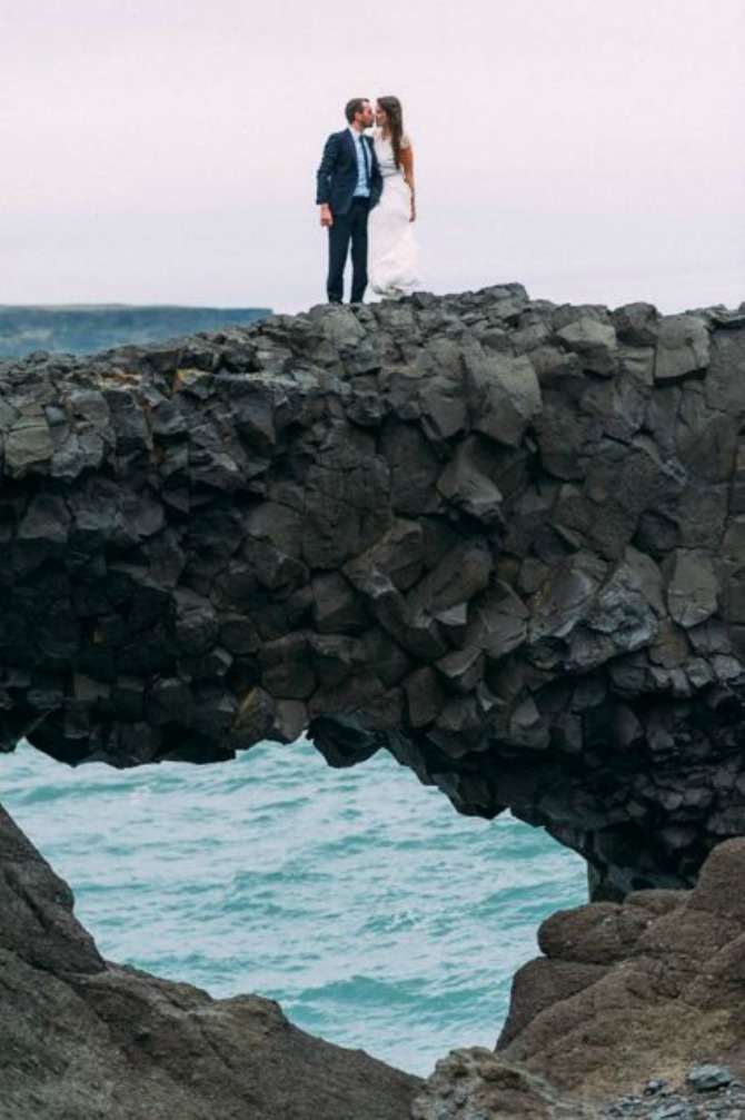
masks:
[(352, 302), (362, 301), (367, 287), (367, 215), (380, 199), (383, 179), (375, 149), (369, 137), (362, 136), (369, 160), (370, 197), (355, 196), (360, 168), (357, 150), (350, 129), (333, 132), (324, 148), (318, 168), (316, 202), (326, 203), (332, 212), (328, 227), (329, 302), (341, 304), (344, 290), (344, 267), (352, 244)]

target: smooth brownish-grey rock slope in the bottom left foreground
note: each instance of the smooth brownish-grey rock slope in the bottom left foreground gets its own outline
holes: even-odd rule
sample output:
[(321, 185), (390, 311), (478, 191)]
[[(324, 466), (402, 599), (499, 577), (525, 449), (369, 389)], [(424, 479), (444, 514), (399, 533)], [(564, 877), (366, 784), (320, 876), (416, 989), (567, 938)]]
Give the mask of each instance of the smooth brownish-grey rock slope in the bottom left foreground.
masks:
[(416, 1077), (271, 1000), (104, 962), (72, 905), (0, 809), (2, 1120), (408, 1120)]

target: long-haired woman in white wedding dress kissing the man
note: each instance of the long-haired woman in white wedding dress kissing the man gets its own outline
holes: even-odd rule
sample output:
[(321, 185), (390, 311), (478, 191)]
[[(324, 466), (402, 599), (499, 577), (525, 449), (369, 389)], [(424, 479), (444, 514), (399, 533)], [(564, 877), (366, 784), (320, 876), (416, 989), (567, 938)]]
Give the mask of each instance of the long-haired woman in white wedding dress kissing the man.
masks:
[(403, 131), (398, 97), (379, 97), (373, 129), (375, 155), (383, 176), (383, 194), (370, 213), (367, 272), (379, 296), (408, 296), (421, 283), (412, 223), (413, 149)]

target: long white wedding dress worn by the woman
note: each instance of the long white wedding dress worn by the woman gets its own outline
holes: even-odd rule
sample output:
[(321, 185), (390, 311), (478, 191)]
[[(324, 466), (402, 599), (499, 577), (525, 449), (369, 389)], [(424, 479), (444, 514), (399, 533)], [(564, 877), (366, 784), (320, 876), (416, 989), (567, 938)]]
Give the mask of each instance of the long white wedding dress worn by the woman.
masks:
[[(404, 137), (402, 147), (408, 147)], [(379, 296), (408, 296), (421, 288), (419, 250), (413, 235), (411, 192), (393, 160), (393, 146), (373, 132), (375, 155), (383, 176), (383, 193), (367, 223), (367, 278)]]

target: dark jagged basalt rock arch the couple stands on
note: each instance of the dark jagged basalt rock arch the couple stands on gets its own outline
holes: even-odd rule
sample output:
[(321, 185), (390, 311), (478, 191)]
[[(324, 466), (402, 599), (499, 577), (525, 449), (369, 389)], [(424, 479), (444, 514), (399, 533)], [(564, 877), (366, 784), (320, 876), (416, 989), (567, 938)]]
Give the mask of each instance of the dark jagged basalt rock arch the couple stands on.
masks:
[(745, 315), (519, 284), (0, 365), (0, 738), (389, 749), (595, 897), (745, 832)]

